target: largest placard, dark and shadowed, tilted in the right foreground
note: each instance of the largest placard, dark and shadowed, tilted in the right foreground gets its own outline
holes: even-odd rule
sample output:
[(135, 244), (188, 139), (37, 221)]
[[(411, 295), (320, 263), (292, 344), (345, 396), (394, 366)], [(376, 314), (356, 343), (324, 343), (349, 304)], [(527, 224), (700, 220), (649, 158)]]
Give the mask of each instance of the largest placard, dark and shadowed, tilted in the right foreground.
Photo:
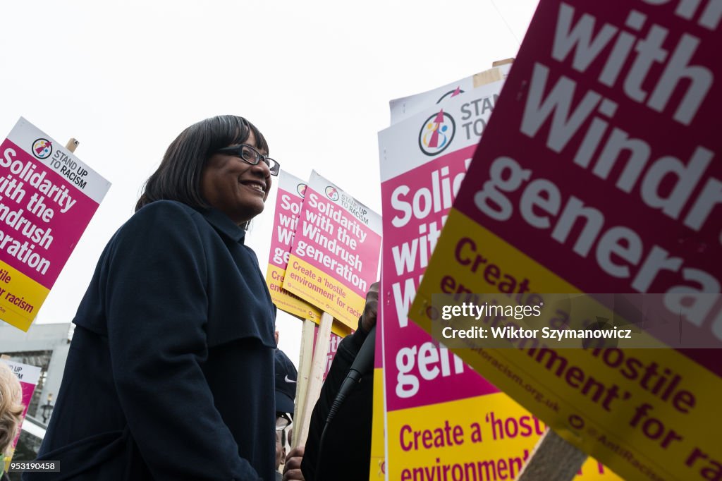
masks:
[[(719, 6), (542, 0), (409, 311), (428, 332), (438, 293), (513, 309), (545, 293), (635, 293), (650, 296), (643, 321), (657, 319), (648, 307), (674, 313), (677, 339), (634, 334), (684, 350), (533, 336), (490, 350), (484, 331), (454, 350), (628, 479), (722, 477), (719, 351), (693, 349), (722, 347)], [(567, 314), (557, 331), (608, 320)], [(517, 332), (514, 318), (477, 327)]]

